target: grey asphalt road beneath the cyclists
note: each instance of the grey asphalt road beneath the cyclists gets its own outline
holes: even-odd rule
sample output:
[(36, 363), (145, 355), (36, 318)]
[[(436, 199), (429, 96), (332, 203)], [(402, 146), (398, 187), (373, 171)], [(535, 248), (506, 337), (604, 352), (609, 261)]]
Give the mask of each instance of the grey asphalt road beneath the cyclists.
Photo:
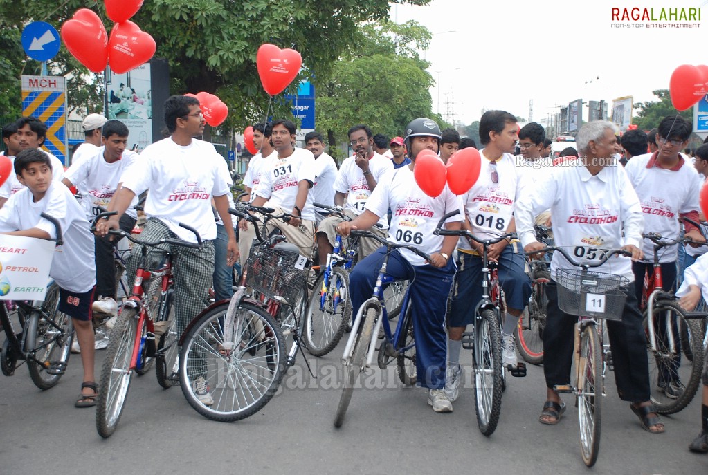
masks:
[[(700, 401), (664, 417), (666, 433), (639, 426), (615, 392), (612, 374), (603, 401), (600, 458), (583, 464), (577, 411), (558, 426), (537, 421), (544, 402), (542, 368), (510, 378), (501, 421), (489, 438), (474, 415), (466, 368), (465, 388), (452, 414), (435, 414), (423, 389), (404, 388), (395, 367), (375, 370), (356, 390), (344, 426), (333, 416), (340, 390), (343, 345), (324, 358), (302, 355), (282, 392), (258, 414), (236, 423), (202, 418), (181, 389), (161, 389), (154, 370), (134, 377), (113, 436), (96, 433), (93, 409), (75, 409), (81, 384), (73, 355), (57, 387), (42, 392), (26, 368), (0, 380), (0, 474), (706, 474), (708, 455), (688, 452), (700, 428)], [(100, 368), (105, 351), (98, 351)], [(463, 361), (464, 363), (464, 361)]]

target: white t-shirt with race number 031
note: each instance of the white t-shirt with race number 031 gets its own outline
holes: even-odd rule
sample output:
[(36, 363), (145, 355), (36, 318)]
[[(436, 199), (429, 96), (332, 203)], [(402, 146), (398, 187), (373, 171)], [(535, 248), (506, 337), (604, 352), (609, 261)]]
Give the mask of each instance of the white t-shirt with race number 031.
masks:
[[(314, 183), (314, 155), (304, 148), (295, 148), (292, 155), (276, 158), (270, 170), (261, 172), (261, 182), (256, 195), (270, 201), (270, 204), (290, 211), (295, 206), (299, 182)], [(307, 201), (302, 211), (302, 219), (314, 221), (312, 193), (307, 193)]]

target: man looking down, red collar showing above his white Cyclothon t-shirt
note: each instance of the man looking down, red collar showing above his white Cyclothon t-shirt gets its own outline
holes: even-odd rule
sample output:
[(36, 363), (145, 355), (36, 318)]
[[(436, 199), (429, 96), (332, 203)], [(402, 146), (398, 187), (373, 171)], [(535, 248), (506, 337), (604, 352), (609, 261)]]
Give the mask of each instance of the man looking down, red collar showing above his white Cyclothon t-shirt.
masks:
[[(691, 123), (680, 115), (664, 117), (656, 134), (658, 151), (636, 156), (629, 160), (624, 168), (641, 201), (644, 229), (646, 232), (659, 233), (662, 238), (668, 240), (680, 237), (679, 218), (698, 221), (698, 173), (690, 163), (687, 164), (687, 160), (680, 153), (685, 148), (691, 131)], [(685, 223), (685, 230), (686, 238), (705, 242), (700, 230), (691, 223)], [(643, 282), (646, 272), (649, 271), (651, 275), (653, 271), (653, 242), (645, 239), (642, 244), (644, 260), (632, 264), (636, 282)], [(659, 254), (663, 288), (668, 292), (675, 290), (678, 247), (679, 245), (664, 247)], [(637, 285), (634, 290), (637, 302), (641, 302), (642, 286)], [(678, 334), (675, 337), (678, 346)], [(677, 350), (680, 354), (680, 348)], [(677, 399), (685, 390), (678, 377), (680, 362), (679, 356), (673, 362), (661, 365), (659, 371), (658, 390), (670, 399)]]

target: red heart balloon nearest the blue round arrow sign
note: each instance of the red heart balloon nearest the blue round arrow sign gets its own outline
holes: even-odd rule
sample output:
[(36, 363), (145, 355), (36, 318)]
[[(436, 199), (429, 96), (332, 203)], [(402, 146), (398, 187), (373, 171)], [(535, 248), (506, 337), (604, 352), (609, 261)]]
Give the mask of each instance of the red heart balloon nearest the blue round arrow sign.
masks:
[(103, 72), (108, 64), (108, 33), (96, 13), (89, 8), (79, 8), (62, 25), (62, 40), (72, 56), (89, 71)]

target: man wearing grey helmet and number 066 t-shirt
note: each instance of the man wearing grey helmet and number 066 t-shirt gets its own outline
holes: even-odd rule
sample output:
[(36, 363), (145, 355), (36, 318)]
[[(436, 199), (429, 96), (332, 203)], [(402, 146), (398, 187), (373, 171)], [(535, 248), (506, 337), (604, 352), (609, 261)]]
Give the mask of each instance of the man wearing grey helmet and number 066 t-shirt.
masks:
[[(438, 124), (426, 118), (413, 120), (406, 127), (405, 141), (412, 163), (382, 178), (369, 197), (366, 210), (353, 221), (340, 223), (338, 233), (346, 237), (351, 229), (369, 229), (386, 216), (390, 207), (393, 217), (389, 240), (413, 245), (430, 254), (430, 262), (425, 262), (408, 250), (394, 250), (387, 273), (396, 279), (411, 281), (410, 310), (418, 383), (428, 388), (428, 404), (433, 406), (433, 411), (451, 412), (452, 404), (444, 391), (446, 348), (443, 324), (447, 294), (455, 275), (455, 263), (450, 254), (457, 238), (438, 236), (433, 231), (442, 216), (455, 210), (460, 212), (459, 215), (448, 219), (445, 228), (460, 228), (461, 216), (464, 216), (462, 201), (447, 187), (440, 196), (429, 197), (413, 177), (418, 153), (425, 149), (438, 152)], [(416, 235), (413, 240), (411, 231)], [(386, 251), (386, 247), (381, 247), (355, 266), (350, 276), (352, 308), (358, 309), (371, 296)]]

